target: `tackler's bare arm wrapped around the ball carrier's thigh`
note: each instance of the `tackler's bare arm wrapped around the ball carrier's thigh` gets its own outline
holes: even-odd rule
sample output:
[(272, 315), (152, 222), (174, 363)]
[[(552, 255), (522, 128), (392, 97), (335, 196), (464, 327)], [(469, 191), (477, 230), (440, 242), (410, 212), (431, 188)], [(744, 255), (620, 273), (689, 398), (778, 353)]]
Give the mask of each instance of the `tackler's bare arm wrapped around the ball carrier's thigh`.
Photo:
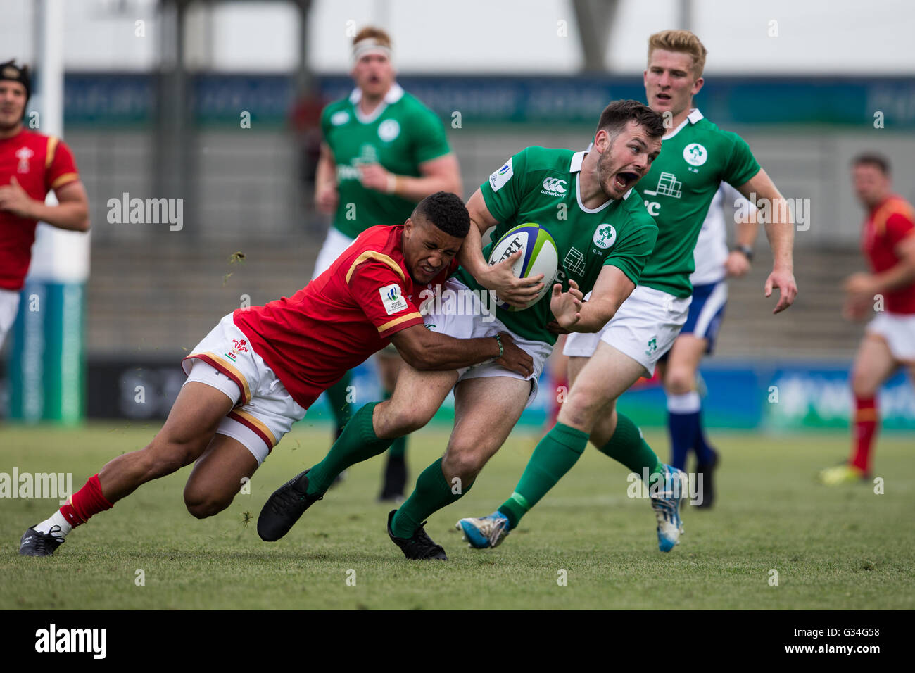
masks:
[(512, 372), (529, 376), (533, 359), (515, 345), (511, 334), (499, 332), (499, 339), (455, 339), (414, 325), (391, 337), (404, 362), (416, 370), (449, 370), (494, 360)]

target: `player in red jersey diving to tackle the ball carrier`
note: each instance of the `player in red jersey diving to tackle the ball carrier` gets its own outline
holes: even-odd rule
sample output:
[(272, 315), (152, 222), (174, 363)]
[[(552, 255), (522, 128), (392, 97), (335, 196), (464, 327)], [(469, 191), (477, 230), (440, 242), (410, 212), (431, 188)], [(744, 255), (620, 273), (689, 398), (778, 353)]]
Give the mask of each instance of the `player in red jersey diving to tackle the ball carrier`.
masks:
[(532, 374), (531, 356), (507, 332), (455, 339), (427, 330), (416, 308), (421, 290), (457, 267), (469, 227), (458, 196), (436, 192), (406, 223), (361, 233), (291, 298), (225, 316), (182, 362), (188, 381), (156, 437), (108, 462), (67, 505), (29, 527), (19, 553), (50, 556), (73, 526), (194, 461), (188, 512), (218, 514), (318, 396), (389, 342), (418, 370), (494, 360)]

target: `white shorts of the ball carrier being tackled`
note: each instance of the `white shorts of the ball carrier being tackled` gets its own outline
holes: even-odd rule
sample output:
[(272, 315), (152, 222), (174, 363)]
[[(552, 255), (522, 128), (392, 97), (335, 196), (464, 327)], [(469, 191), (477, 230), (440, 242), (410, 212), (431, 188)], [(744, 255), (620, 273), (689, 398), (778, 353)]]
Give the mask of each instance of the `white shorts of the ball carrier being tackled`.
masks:
[[(425, 326), (431, 331), (447, 334), (455, 339), (477, 339), (479, 337), (495, 336), (500, 331), (507, 331), (514, 338), (515, 345), (528, 353), (533, 359), (533, 374), (522, 376), (516, 372), (491, 362), (474, 364), (458, 370), (458, 383), (471, 378), (486, 378), (488, 376), (508, 376), (522, 381), (531, 382), (531, 395), (527, 398), (526, 407), (530, 407), (537, 396), (537, 379), (544, 371), (544, 363), (553, 351), (553, 346), (546, 342), (535, 342), (515, 334), (505, 327), (494, 312), (484, 312), (484, 307), (476, 292), (473, 292), (457, 278), (448, 278), (443, 290), (452, 290), (457, 299), (450, 303), (447, 300), (435, 302), (429, 300), (425, 308), (420, 307), (424, 313)], [(485, 291), (485, 290), (484, 290)], [(437, 304), (437, 305), (436, 305)], [(449, 309), (450, 307), (450, 309)], [(488, 304), (485, 309), (494, 310), (494, 305)]]

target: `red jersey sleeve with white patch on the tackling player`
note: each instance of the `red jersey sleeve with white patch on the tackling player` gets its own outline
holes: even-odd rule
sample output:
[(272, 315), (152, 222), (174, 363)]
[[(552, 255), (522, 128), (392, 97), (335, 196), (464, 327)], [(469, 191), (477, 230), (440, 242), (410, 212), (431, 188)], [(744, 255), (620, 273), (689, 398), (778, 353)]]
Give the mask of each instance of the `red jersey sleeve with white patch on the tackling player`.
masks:
[(381, 260), (370, 259), (354, 266), (347, 282), (352, 298), (382, 339), (423, 324), (422, 314), (408, 299), (404, 279)]

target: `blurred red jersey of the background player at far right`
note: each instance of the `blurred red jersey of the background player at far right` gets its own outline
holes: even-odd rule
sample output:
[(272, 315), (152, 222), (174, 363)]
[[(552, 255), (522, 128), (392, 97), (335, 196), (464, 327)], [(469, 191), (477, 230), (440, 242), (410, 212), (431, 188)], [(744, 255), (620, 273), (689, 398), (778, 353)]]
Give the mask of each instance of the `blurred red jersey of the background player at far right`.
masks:
[[(915, 211), (908, 201), (892, 194), (879, 203), (867, 217), (861, 248), (871, 270), (882, 273), (899, 264), (896, 246), (915, 234)], [(915, 283), (885, 294), (884, 308), (889, 313), (915, 313)]]

